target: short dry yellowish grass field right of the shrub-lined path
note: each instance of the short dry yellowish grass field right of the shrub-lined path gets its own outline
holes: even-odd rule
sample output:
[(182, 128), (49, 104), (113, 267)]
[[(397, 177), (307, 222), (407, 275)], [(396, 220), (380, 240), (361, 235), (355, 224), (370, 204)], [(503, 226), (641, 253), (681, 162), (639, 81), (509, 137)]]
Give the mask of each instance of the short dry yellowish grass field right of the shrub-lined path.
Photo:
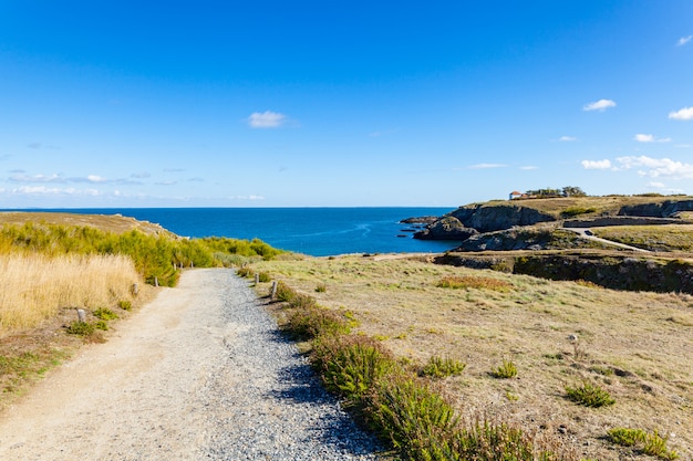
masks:
[[(399, 357), (466, 363), (445, 391), (462, 413), (518, 422), (573, 447), (585, 458), (647, 457), (614, 447), (609, 429), (633, 427), (669, 436), (682, 459), (693, 457), (693, 297), (617, 292), (573, 282), (434, 265), (422, 260), (344, 256), (262, 262), (293, 289), (331, 308), (345, 308), (360, 329)], [(514, 286), (449, 290), (444, 277), (479, 276)], [(316, 286), (324, 291), (316, 292)], [(258, 287), (267, 293), (268, 284)], [(571, 340), (571, 335), (577, 340)], [(518, 375), (490, 373), (511, 359)], [(616, 405), (586, 408), (566, 386), (593, 383)]]

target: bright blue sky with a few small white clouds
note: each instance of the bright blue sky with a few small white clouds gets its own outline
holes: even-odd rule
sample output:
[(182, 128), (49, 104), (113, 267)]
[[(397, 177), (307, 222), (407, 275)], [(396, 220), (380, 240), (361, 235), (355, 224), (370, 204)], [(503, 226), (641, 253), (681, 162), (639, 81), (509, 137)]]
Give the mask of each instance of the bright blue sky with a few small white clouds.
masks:
[(693, 2), (0, 1), (0, 208), (693, 193)]

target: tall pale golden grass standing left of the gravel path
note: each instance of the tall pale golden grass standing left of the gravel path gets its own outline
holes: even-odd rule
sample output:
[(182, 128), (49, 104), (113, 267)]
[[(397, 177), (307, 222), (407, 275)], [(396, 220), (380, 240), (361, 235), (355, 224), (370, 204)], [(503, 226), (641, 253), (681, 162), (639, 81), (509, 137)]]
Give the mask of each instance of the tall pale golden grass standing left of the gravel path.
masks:
[(64, 307), (111, 306), (131, 301), (139, 281), (125, 256), (0, 255), (0, 336), (32, 328)]

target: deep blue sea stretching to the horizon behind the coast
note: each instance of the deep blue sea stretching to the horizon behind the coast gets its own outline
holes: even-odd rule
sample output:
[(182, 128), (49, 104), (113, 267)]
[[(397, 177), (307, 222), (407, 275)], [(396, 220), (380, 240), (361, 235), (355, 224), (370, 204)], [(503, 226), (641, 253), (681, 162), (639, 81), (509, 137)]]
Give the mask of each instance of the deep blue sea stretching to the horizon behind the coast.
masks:
[(437, 253), (451, 250), (457, 243), (415, 240), (411, 232), (413, 226), (400, 223), (411, 217), (442, 216), (453, 208), (91, 208), (41, 211), (120, 213), (158, 223), (178, 235), (258, 238), (275, 248), (313, 256)]

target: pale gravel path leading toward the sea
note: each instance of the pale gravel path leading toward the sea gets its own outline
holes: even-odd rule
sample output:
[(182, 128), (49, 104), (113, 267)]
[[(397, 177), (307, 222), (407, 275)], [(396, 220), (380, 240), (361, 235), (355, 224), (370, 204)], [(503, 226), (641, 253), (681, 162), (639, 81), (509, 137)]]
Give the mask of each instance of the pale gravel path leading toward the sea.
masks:
[(176, 289), (0, 415), (2, 460), (375, 460), (248, 283)]

